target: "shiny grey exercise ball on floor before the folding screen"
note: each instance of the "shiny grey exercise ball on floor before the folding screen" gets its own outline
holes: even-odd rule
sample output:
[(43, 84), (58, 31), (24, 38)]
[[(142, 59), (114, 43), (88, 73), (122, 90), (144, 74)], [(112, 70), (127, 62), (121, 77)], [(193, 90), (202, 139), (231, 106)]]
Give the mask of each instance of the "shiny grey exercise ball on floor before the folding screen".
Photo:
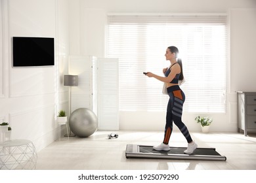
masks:
[(98, 127), (98, 118), (89, 108), (77, 108), (68, 122), (71, 131), (78, 137), (89, 137)]

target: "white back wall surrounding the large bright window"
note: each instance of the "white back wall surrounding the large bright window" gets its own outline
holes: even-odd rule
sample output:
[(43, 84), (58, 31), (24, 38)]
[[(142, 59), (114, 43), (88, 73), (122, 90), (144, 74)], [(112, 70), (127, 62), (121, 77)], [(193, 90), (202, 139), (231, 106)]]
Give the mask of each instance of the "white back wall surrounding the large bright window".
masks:
[[(71, 54), (83, 54), (93, 55), (98, 57), (104, 57), (104, 38), (105, 38), (105, 26), (106, 26), (106, 14), (108, 12), (225, 12), (230, 18), (230, 73), (228, 75), (228, 91), (226, 96), (227, 111), (226, 114), (203, 114), (209, 115), (213, 118), (214, 122), (211, 125), (212, 131), (237, 131), (237, 90), (256, 90), (254, 84), (256, 74), (253, 68), (256, 67), (255, 61), (253, 61), (253, 51), (255, 50), (255, 14), (253, 12), (242, 15), (246, 17), (236, 21), (237, 16), (240, 17), (242, 12), (238, 14), (233, 9), (244, 8), (256, 8), (255, 0), (75, 0), (72, 1), (73, 17), (70, 21), (77, 22), (74, 27), (70, 27), (70, 31), (76, 34), (70, 34), (70, 41), (72, 48), (70, 48)], [(239, 14), (240, 13), (240, 14)], [(236, 28), (241, 25), (246, 27), (253, 27), (252, 30), (240, 28), (237, 31)], [(243, 40), (246, 35), (246, 41)], [(253, 39), (251, 39), (253, 38)], [(249, 41), (251, 40), (251, 41)], [(247, 42), (248, 41), (248, 42)], [(239, 46), (247, 43), (242, 50), (246, 52), (245, 58), (241, 61), (241, 55), (238, 54)], [(74, 47), (75, 46), (75, 47)], [(75, 49), (78, 48), (78, 49)], [(79, 52), (77, 51), (79, 50)], [(239, 55), (239, 56), (238, 56)], [(244, 55), (243, 55), (244, 56)], [(240, 62), (244, 63), (243, 68), (249, 65), (249, 69), (244, 69), (238, 72), (240, 68)], [(249, 84), (243, 81), (243, 76), (247, 76), (246, 79), (251, 78)], [(237, 84), (237, 81), (240, 84)], [(243, 84), (243, 85), (242, 85)], [(243, 86), (243, 87), (239, 87)], [(185, 103), (186, 105), (186, 103)], [(194, 122), (195, 116), (198, 114), (184, 112), (183, 120), (188, 125), (190, 131), (200, 130), (200, 126)], [(120, 112), (120, 129), (138, 129), (138, 130), (162, 130), (165, 124), (165, 112)]]

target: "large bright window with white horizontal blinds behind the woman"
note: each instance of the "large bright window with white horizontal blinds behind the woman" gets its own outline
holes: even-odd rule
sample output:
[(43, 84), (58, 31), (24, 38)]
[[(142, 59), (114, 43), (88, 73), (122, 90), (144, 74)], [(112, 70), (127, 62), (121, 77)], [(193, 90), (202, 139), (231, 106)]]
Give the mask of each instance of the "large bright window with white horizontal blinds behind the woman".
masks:
[(225, 112), (226, 16), (109, 14), (106, 56), (119, 58), (119, 110), (166, 110), (163, 75), (168, 46), (177, 46), (188, 112)]

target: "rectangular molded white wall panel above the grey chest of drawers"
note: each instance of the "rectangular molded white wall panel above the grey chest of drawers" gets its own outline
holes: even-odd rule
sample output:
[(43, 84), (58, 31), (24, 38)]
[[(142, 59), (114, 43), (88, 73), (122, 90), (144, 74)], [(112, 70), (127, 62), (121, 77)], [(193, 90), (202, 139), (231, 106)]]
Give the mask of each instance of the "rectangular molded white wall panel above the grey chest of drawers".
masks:
[(234, 8), (229, 13), (230, 90), (255, 92), (256, 8)]

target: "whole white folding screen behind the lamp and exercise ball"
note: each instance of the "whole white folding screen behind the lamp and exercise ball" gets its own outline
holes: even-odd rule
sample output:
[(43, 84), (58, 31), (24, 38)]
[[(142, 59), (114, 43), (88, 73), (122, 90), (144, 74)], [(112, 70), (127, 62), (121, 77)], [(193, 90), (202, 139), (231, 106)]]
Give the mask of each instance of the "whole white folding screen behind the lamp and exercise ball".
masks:
[(89, 108), (98, 116), (98, 129), (119, 129), (118, 59), (70, 56), (69, 74), (78, 75), (71, 88), (71, 112)]

